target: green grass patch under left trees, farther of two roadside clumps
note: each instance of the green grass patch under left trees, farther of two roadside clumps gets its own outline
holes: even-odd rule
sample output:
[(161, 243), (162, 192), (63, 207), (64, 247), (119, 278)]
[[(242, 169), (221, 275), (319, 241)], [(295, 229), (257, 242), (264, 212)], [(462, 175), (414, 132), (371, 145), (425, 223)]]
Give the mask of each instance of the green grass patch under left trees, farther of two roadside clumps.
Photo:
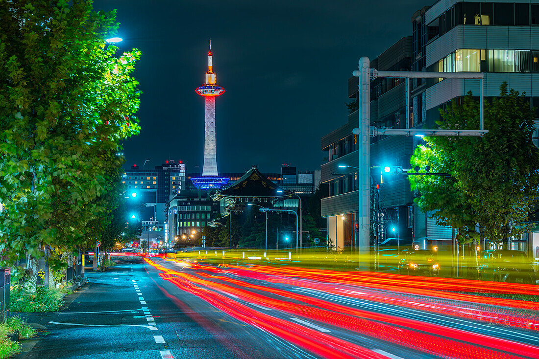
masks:
[(25, 291), (22, 285), (11, 286), (10, 309), (13, 312), (54, 312), (63, 304), (63, 293), (58, 289), (37, 286), (35, 293)]

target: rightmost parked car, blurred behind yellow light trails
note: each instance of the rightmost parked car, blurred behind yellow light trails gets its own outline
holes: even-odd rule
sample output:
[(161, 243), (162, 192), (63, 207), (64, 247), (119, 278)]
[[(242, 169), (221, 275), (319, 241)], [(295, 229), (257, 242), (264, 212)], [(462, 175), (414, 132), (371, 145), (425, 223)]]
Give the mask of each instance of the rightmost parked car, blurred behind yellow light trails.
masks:
[(535, 284), (534, 267), (523, 251), (486, 250), (481, 253), (480, 261), (481, 279)]

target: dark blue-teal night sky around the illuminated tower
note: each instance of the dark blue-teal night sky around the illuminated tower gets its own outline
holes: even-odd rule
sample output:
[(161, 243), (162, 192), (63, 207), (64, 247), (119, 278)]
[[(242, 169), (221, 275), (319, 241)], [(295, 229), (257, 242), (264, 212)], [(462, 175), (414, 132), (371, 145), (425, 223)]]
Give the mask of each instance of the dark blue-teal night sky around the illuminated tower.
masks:
[[(432, 1), (432, 0), (431, 0)], [(319, 170), (320, 138), (347, 121), (348, 78), (412, 34), (413, 13), (430, 2), (96, 0), (118, 9), (121, 51), (142, 51), (134, 73), (142, 130), (125, 143), (126, 165), (203, 163), (208, 39), (226, 93), (216, 100), (219, 172), (282, 164)]]

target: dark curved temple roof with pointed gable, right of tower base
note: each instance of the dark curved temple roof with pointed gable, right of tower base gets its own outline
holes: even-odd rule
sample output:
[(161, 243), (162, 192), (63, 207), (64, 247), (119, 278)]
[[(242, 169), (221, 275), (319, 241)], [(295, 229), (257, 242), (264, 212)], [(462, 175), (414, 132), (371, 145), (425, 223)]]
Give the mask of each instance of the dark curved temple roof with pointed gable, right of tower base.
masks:
[(217, 191), (214, 198), (275, 198), (289, 194), (291, 192), (268, 180), (253, 166), (234, 185)]

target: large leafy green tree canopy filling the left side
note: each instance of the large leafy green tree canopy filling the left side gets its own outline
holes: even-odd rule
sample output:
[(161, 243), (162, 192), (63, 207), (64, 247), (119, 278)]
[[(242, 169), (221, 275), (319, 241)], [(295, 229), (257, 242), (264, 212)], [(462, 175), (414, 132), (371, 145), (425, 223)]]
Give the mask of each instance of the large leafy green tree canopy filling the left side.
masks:
[(6, 0), (0, 18), (0, 265), (27, 255), (35, 280), (46, 248), (101, 236), (120, 141), (140, 129), (140, 53), (114, 57), (115, 13), (89, 0)]

